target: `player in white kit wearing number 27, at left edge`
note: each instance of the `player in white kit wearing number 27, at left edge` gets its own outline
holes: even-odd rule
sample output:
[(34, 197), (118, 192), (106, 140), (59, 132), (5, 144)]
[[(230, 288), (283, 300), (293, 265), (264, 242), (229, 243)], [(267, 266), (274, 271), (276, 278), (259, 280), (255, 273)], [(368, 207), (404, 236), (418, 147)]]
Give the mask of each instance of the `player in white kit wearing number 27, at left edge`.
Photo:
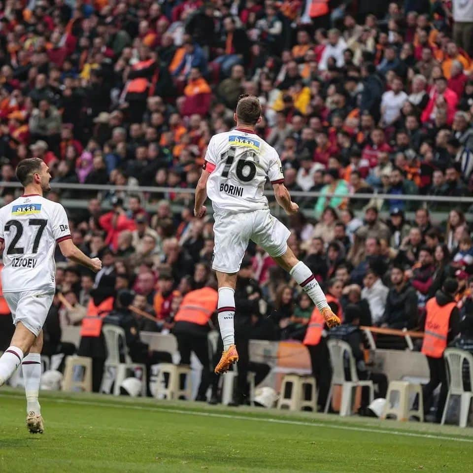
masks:
[(38, 402), (41, 377), (42, 327), (56, 289), (56, 243), (69, 260), (95, 272), (99, 258), (89, 258), (72, 243), (68, 216), (60, 203), (48, 201), (48, 166), (39, 158), (25, 159), (16, 168), (24, 194), (0, 209), (3, 297), (10, 308), (15, 332), (0, 358), (0, 386), (22, 364), (27, 399), (27, 428), (42, 434)]

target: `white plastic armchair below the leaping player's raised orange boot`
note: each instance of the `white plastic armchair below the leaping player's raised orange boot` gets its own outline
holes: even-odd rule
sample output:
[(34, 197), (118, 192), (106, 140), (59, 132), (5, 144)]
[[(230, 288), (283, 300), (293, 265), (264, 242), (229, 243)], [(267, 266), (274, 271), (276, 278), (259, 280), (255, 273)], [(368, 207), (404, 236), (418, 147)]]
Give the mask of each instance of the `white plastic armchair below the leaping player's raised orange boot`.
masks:
[[(327, 342), (330, 351), (330, 362), (332, 363), (332, 382), (330, 383), (329, 395), (327, 397), (327, 404), (325, 405), (324, 412), (327, 413), (329, 405), (332, 401), (334, 385), (341, 385), (341, 405), (340, 405), (340, 416), (347, 416), (352, 414), (353, 409), (353, 389), (361, 386), (368, 387), (370, 390), (370, 404), (374, 399), (374, 385), (371, 380), (361, 381), (358, 379), (356, 372), (355, 357), (351, 351), (351, 347), (348, 343), (342, 340), (329, 340)], [(345, 367), (344, 359), (345, 354), (348, 356), (350, 378), (348, 381), (345, 378)]]

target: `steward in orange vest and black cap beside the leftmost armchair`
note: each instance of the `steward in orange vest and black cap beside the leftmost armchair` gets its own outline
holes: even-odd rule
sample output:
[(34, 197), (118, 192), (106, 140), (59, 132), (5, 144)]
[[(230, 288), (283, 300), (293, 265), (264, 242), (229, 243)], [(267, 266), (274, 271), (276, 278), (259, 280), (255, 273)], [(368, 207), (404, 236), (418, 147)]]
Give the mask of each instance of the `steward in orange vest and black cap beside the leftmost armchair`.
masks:
[(104, 317), (113, 309), (115, 297), (115, 276), (104, 274), (99, 286), (90, 292), (87, 315), (82, 319), (78, 355), (92, 358), (92, 389), (100, 390), (103, 364), (107, 357), (102, 335)]

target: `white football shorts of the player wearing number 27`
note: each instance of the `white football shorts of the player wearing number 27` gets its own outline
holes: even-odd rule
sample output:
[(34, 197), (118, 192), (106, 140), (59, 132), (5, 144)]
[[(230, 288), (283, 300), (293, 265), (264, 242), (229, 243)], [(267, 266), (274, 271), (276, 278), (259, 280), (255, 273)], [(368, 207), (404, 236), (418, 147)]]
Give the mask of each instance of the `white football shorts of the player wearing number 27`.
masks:
[(4, 292), (8, 307), (10, 307), (13, 324), (21, 322), (37, 337), (53, 303), (54, 292), (35, 291)]

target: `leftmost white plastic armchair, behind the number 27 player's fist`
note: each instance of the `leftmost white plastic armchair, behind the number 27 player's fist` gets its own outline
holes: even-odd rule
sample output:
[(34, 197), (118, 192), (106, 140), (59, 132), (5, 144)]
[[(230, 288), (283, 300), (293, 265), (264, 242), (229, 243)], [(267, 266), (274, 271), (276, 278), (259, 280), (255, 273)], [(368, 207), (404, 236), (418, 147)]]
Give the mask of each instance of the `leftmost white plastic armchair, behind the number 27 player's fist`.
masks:
[[(103, 337), (107, 347), (107, 359), (105, 360), (105, 373), (101, 383), (101, 392), (110, 393), (110, 380), (114, 379), (113, 394), (120, 395), (120, 385), (127, 377), (128, 370), (141, 370), (141, 396), (146, 396), (146, 366), (133, 363), (128, 354), (128, 346), (126, 342), (125, 331), (116, 325), (106, 324), (102, 327)], [(123, 343), (123, 351), (125, 355), (125, 363), (120, 363), (120, 338)], [(114, 372), (114, 375), (113, 375)]]

